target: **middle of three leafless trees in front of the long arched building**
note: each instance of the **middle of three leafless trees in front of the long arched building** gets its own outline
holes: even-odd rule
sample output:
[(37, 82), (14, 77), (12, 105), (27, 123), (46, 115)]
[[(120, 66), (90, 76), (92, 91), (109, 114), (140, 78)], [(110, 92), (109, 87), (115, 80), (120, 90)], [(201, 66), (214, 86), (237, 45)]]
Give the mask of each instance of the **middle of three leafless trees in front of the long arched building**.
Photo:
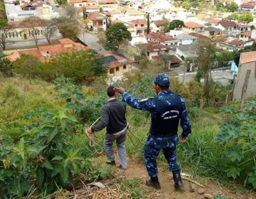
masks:
[(36, 16), (31, 16), (22, 21), (23, 26), (28, 28), (28, 31), (31, 33), (33, 40), (36, 43), (36, 48), (38, 48), (38, 35), (40, 33), (38, 27), (40, 27), (41, 18)]

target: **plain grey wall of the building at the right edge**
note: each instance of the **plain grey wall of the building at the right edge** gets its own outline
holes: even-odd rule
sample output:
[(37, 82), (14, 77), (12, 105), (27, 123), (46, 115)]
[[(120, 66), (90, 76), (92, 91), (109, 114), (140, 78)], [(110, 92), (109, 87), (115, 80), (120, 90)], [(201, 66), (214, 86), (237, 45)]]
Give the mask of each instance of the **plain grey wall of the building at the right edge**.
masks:
[(251, 70), (249, 82), (247, 86), (247, 91), (245, 97), (251, 97), (256, 95), (256, 62), (253, 63), (245, 63), (239, 66), (238, 68), (238, 77), (236, 78), (235, 82), (235, 90), (233, 93), (234, 100), (240, 100), (242, 95), (242, 85), (245, 81), (245, 75), (247, 72), (247, 68)]

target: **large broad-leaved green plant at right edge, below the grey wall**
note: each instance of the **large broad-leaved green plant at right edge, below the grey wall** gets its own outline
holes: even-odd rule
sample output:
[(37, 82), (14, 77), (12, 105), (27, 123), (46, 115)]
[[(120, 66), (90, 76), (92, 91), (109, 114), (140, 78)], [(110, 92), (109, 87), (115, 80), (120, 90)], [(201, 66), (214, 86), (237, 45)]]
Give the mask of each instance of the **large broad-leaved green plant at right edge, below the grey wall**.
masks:
[(247, 102), (242, 111), (235, 106), (224, 107), (223, 111), (230, 118), (215, 140), (224, 146), (224, 171), (228, 177), (239, 177), (245, 186), (256, 188), (256, 102)]

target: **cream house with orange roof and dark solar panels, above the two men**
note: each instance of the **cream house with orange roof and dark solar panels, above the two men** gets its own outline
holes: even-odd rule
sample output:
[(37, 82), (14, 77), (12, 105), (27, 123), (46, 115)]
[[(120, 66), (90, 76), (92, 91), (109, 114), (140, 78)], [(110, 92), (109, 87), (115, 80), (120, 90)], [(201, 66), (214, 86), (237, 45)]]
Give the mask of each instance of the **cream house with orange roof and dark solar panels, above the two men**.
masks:
[(107, 65), (107, 74), (116, 77), (124, 75), (124, 72), (132, 70), (133, 60), (115, 55), (113, 53), (103, 53), (101, 58), (103, 63)]

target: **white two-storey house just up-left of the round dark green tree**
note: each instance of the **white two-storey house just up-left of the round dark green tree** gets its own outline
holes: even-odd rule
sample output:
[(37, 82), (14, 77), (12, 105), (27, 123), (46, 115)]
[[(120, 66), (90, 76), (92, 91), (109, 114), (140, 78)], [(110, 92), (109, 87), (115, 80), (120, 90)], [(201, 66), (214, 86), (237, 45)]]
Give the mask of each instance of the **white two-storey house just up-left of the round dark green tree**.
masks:
[(106, 31), (107, 30), (107, 16), (102, 14), (100, 11), (94, 11), (87, 14), (87, 28), (90, 31)]

